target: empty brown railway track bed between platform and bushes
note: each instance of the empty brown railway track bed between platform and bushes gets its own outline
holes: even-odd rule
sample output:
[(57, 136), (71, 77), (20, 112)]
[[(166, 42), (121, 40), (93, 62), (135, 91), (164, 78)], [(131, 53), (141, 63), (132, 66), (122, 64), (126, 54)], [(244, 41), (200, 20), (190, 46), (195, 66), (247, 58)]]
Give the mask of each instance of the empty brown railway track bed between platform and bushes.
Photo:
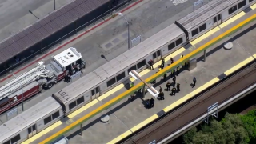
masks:
[(256, 63), (240, 70), (238, 74), (226, 78), (224, 82), (220, 82), (217, 86), (198, 95), (194, 100), (186, 102), (178, 110), (174, 110), (164, 118), (156, 120), (145, 127), (144, 130), (131, 135), (130, 138), (123, 140), (121, 143), (160, 142), (170, 134), (180, 130), (183, 126), (206, 114), (207, 108), (215, 102), (220, 105), (242, 92), (242, 90), (254, 85), (255, 82)]

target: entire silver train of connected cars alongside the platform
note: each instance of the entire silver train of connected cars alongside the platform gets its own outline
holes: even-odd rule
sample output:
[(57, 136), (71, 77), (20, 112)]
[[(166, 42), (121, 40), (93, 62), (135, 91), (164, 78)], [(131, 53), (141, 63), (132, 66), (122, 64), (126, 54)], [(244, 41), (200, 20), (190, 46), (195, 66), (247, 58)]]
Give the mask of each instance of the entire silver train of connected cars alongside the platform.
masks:
[(214, 0), (185, 18), (176, 21), (141, 42), (134, 48), (98, 67), (66, 86), (52, 97), (10, 119), (0, 126), (0, 143), (21, 143), (46, 129), (59, 119), (120, 83), (129, 83), (130, 70), (142, 71), (150, 59), (158, 62), (163, 56), (219, 26), (232, 15), (245, 10), (256, 0)]

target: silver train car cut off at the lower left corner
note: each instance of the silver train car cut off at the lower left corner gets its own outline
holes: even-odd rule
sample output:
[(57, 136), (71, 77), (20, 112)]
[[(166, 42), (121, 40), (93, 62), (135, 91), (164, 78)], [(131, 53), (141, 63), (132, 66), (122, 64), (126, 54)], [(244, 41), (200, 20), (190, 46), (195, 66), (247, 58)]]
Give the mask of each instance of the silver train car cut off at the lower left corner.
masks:
[(21, 143), (63, 117), (62, 106), (52, 97), (0, 126), (0, 143)]

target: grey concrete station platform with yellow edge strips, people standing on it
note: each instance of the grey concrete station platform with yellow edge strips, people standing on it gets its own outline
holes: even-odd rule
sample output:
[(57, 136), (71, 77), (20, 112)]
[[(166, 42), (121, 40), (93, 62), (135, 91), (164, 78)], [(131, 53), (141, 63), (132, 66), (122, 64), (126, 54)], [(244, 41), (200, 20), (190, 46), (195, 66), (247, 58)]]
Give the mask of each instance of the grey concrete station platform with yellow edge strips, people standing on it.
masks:
[[(169, 59), (174, 58), (178, 60), (181, 54), (188, 54), (192, 50), (195, 50), (199, 46), (203, 46), (206, 42), (210, 42), (212, 38), (217, 37), (226, 30), (230, 30), (231, 27), (249, 18), (255, 14), (256, 5), (250, 6), (250, 10), (242, 11), (235, 15), (230, 20), (222, 23), (214, 30), (210, 30), (208, 33), (190, 42), (192, 46), (188, 48), (182, 47), (165, 58), (166, 63), (170, 64)], [(203, 55), (198, 55), (197, 67), (194, 70), (183, 70), (177, 76), (177, 82), (180, 83), (181, 91), (175, 96), (170, 96), (170, 92), (164, 91), (165, 100), (155, 100), (154, 108), (146, 109), (145, 99), (149, 99), (152, 96), (146, 93), (146, 98), (136, 96), (134, 101), (130, 101), (130, 98), (124, 98), (120, 102), (117, 102), (109, 109), (102, 111), (102, 113), (90, 118), (87, 122), (83, 123), (82, 136), (79, 135), (80, 128), (77, 127), (74, 130), (70, 130), (65, 136), (69, 139), (70, 143), (115, 143), (125, 138), (126, 136), (134, 133), (136, 130), (142, 128), (149, 122), (165, 114), (167, 111), (185, 102), (187, 99), (198, 94), (200, 91), (206, 89), (206, 87), (218, 82), (226, 75), (232, 74), (235, 70), (246, 65), (255, 59), (256, 50), (255, 46), (255, 33), (256, 22), (250, 23), (248, 26), (238, 30), (238, 32), (230, 35), (230, 37), (223, 38), (221, 42), (217, 42), (209, 49), (207, 49), (206, 62), (203, 61)], [(223, 48), (223, 43), (232, 42), (233, 48), (226, 50)], [(158, 71), (157, 66), (160, 63), (154, 64), (155, 70), (143, 70), (140, 75), (142, 78), (148, 78), (152, 74)], [(170, 74), (170, 73), (169, 73)], [(168, 74), (168, 75), (169, 75)], [(192, 88), (192, 78), (197, 78), (197, 84)], [(172, 82), (170, 77), (167, 81)], [(138, 82), (130, 78), (130, 81), (136, 85)], [(160, 78), (157, 79), (157, 83), (153, 85), (157, 90), (158, 86), (162, 86), (166, 89), (166, 82), (162, 82)], [(36, 134), (23, 143), (39, 143), (49, 138), (59, 130), (62, 130), (70, 123), (82, 118), (82, 116), (89, 114), (92, 110), (97, 109), (102, 104), (109, 102), (111, 99), (122, 94), (127, 90), (126, 86), (120, 84), (110, 90), (108, 93), (103, 94), (98, 99), (90, 102), (88, 105), (83, 106), (74, 113), (68, 115), (65, 120), (56, 122), (46, 130)], [(109, 115), (110, 121), (106, 123), (100, 122), (102, 115)]]

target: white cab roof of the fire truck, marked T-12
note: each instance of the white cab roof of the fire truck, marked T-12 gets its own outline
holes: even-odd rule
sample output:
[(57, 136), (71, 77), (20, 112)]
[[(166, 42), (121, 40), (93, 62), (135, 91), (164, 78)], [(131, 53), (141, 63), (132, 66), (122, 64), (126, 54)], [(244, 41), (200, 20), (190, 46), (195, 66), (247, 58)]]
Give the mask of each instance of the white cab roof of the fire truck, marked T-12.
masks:
[(67, 50), (62, 51), (62, 53), (55, 55), (54, 61), (58, 62), (60, 66), (66, 67), (81, 58), (82, 54), (78, 53), (74, 47), (70, 47)]

